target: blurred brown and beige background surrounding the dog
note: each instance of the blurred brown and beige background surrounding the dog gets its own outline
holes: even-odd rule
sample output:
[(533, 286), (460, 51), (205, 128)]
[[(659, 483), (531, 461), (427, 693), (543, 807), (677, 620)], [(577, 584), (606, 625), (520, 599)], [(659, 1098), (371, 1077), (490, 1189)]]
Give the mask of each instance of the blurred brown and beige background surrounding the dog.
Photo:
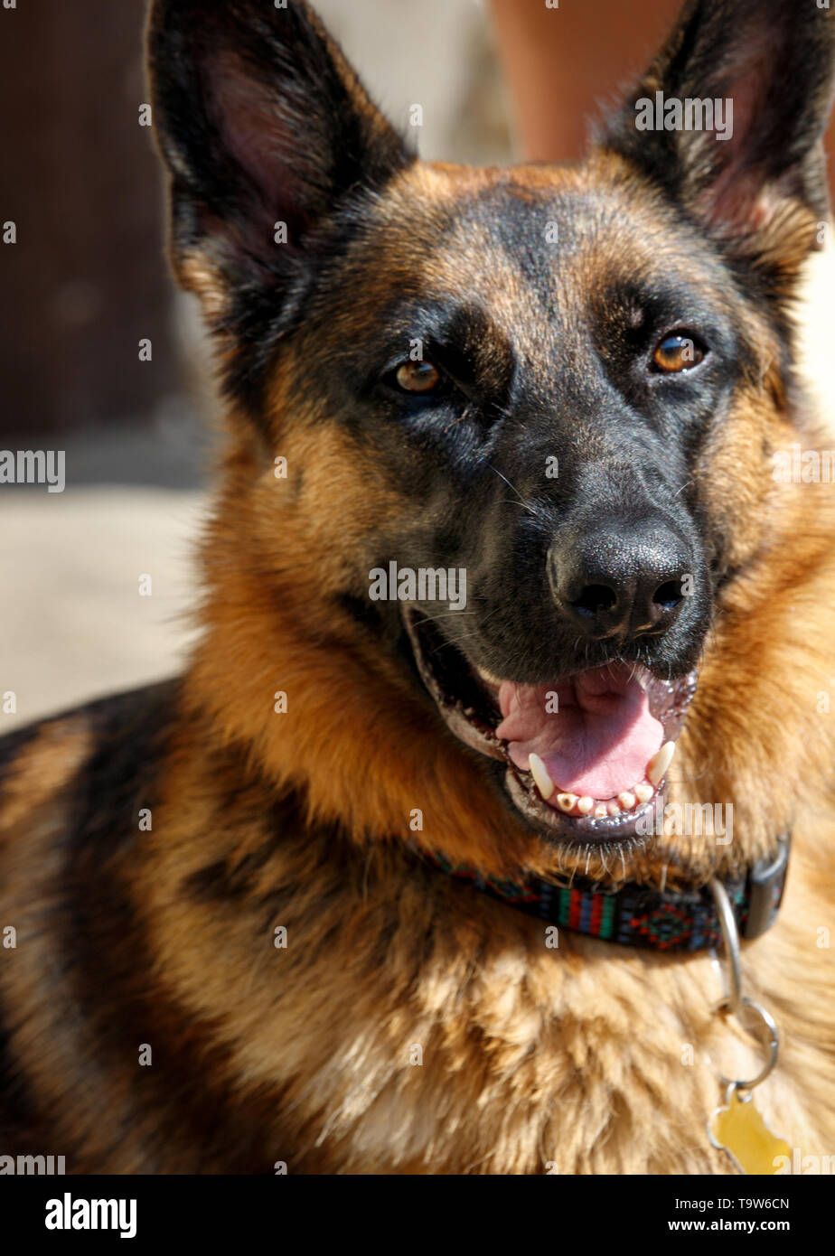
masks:
[[(529, 108), (527, 127), (524, 109), (514, 122), (497, 43), (524, 84), (525, 58), (544, 46), (542, 0), (495, 0), (498, 26), (480, 0), (316, 8), (393, 122), (422, 104), (421, 156), (492, 165), (521, 160), (522, 147), (581, 151), (576, 111)], [(563, 0), (563, 29), (576, 29), (555, 87), (611, 95), (676, 8)], [(524, 11), (532, 33), (520, 53)], [(162, 172), (139, 124), (144, 19), (146, 0), (0, 8), (0, 231), (16, 229), (14, 244), (0, 242), (0, 451), (63, 450), (67, 475), (64, 492), (0, 485), (0, 734), (172, 674), (188, 648), (215, 402), (196, 310), (164, 261)], [(814, 284), (817, 362), (831, 354), (831, 274)], [(151, 597), (139, 595), (144, 575)]]

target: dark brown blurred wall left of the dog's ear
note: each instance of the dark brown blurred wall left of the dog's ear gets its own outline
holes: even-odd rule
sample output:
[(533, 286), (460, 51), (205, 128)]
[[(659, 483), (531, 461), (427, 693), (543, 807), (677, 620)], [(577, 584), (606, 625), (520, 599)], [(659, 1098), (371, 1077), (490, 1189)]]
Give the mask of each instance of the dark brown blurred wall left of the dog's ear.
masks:
[(143, 23), (143, 0), (0, 9), (3, 435), (119, 423), (176, 389)]

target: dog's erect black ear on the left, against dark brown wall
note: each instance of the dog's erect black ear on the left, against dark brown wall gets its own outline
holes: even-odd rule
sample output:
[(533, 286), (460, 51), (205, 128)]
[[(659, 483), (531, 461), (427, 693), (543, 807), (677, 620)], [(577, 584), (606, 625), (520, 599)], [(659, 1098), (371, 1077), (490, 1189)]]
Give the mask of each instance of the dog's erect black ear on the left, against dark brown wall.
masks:
[(175, 270), (234, 334), (242, 294), (275, 315), (335, 211), (413, 157), (303, 0), (154, 0), (148, 55)]

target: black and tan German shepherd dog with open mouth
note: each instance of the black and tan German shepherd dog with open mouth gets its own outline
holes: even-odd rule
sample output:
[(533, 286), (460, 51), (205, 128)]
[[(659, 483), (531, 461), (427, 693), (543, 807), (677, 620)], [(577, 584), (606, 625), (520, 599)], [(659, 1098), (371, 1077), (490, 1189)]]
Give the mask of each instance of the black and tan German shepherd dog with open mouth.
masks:
[(477, 170), (418, 161), (301, 0), (156, 0), (226, 403), (203, 631), (3, 742), (0, 1153), (733, 1173), (751, 1004), (756, 1110), (835, 1152), (835, 490), (792, 319), (834, 48), (811, 0), (691, 0), (585, 163)]

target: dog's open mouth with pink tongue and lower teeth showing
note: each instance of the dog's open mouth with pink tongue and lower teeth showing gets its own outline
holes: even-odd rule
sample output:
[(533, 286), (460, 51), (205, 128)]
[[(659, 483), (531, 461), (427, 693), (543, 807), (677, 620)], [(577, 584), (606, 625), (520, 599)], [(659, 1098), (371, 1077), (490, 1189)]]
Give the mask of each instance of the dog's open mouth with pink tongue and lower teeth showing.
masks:
[(506, 765), (517, 810), (554, 840), (615, 843), (647, 830), (696, 672), (668, 681), (613, 661), (519, 685), (471, 664), (432, 622), (404, 612), (418, 671), (450, 730)]

